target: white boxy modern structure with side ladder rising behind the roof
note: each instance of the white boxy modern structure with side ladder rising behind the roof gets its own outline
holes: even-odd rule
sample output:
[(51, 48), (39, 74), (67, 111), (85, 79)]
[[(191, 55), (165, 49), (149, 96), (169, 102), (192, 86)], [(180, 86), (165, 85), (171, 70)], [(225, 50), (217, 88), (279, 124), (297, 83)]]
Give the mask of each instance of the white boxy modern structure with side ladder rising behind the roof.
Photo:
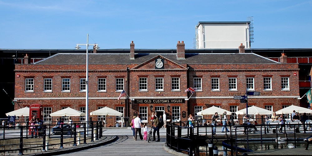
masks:
[(252, 22), (198, 22), (195, 27), (196, 49), (237, 49), (241, 43), (250, 48)]

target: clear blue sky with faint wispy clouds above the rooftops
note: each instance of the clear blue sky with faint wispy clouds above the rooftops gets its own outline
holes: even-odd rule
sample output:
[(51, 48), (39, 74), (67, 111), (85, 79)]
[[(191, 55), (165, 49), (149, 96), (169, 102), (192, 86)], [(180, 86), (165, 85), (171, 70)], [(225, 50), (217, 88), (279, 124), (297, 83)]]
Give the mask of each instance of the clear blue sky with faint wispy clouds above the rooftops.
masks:
[(101, 49), (193, 49), (198, 21), (248, 16), (251, 48), (312, 48), (312, 1), (0, 0), (0, 13), (2, 49), (74, 49), (87, 34)]

